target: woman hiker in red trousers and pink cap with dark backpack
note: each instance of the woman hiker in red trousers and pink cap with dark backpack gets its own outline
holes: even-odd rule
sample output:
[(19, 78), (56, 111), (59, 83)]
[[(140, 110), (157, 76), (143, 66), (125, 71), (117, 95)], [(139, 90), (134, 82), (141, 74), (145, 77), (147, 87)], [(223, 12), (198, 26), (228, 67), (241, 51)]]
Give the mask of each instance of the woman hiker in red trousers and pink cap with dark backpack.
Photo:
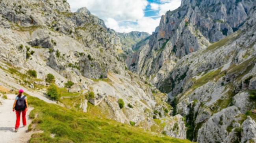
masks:
[(18, 132), (20, 126), (20, 113), (22, 116), (23, 126), (26, 126), (26, 112), (28, 111), (28, 100), (27, 97), (22, 95), (24, 91), (22, 89), (19, 90), (19, 94), (16, 96), (15, 101), (13, 103), (13, 112), (16, 111), (16, 124), (15, 124), (15, 132)]

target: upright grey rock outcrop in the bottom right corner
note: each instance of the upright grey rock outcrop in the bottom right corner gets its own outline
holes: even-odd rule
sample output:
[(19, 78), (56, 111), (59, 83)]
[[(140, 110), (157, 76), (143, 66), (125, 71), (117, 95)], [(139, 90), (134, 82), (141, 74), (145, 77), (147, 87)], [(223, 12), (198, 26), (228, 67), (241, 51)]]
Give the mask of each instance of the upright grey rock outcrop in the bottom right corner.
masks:
[(255, 121), (247, 117), (247, 119), (242, 124), (243, 131), (241, 132), (241, 143), (256, 142), (256, 123)]

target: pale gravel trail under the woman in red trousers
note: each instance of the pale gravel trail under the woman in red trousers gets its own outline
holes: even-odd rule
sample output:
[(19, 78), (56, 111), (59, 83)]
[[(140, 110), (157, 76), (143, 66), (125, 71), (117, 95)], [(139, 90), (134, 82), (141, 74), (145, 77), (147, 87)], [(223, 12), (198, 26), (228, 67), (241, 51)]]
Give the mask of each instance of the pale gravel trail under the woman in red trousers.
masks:
[(0, 142), (1, 143), (27, 143), (34, 132), (26, 132), (31, 123), (29, 114), (32, 108), (28, 108), (26, 113), (27, 126), (23, 127), (22, 118), (18, 132), (14, 132), (16, 114), (12, 111), (15, 94), (7, 94), (7, 99), (0, 97)]

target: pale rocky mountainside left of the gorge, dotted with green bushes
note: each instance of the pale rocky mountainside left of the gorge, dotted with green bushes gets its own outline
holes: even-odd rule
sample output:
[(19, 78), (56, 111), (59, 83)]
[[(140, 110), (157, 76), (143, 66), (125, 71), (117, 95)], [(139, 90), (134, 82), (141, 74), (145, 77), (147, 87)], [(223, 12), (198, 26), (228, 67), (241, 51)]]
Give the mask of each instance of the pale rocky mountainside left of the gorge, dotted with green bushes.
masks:
[(128, 71), (120, 56), (147, 36), (116, 33), (85, 7), (71, 13), (66, 0), (0, 0), (0, 82), (45, 96), (52, 82), (68, 94), (58, 99), (63, 107), (185, 139), (167, 94)]

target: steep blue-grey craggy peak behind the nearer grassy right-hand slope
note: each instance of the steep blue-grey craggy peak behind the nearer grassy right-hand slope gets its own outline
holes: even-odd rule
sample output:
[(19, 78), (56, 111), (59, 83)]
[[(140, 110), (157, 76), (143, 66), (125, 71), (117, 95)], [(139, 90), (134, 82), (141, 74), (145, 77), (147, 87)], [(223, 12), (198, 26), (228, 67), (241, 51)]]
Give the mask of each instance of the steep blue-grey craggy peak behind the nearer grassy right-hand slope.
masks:
[(254, 0), (182, 0), (161, 17), (160, 25), (130, 56), (128, 68), (159, 87), (176, 62), (234, 33), (252, 13)]

